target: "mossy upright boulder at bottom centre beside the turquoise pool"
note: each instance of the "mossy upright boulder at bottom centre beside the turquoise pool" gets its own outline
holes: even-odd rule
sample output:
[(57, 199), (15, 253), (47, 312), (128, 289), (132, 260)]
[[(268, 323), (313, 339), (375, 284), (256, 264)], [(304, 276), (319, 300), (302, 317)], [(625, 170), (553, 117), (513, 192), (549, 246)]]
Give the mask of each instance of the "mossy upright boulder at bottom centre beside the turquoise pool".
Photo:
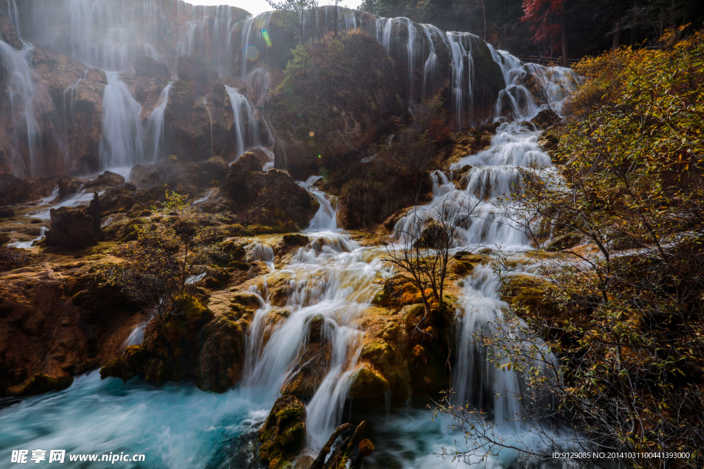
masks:
[(279, 397), (258, 435), (260, 461), (270, 469), (289, 468), (306, 444), (306, 407), (289, 394)]

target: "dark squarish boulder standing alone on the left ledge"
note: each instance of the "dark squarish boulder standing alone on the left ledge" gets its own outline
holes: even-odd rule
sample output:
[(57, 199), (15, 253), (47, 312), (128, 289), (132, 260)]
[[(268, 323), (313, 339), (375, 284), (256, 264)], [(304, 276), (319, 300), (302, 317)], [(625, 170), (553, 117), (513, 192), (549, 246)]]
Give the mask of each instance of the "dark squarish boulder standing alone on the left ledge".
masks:
[(93, 217), (80, 207), (51, 209), (46, 244), (61, 248), (86, 248), (97, 244)]

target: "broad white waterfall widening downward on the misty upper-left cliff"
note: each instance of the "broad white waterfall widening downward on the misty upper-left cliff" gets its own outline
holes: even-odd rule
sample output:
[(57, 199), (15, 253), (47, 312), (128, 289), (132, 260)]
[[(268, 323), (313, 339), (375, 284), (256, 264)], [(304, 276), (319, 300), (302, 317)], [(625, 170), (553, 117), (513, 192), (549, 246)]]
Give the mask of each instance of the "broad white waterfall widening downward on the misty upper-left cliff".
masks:
[(106, 75), (101, 169), (131, 168), (144, 162), (142, 105), (134, 99), (118, 72), (106, 72)]

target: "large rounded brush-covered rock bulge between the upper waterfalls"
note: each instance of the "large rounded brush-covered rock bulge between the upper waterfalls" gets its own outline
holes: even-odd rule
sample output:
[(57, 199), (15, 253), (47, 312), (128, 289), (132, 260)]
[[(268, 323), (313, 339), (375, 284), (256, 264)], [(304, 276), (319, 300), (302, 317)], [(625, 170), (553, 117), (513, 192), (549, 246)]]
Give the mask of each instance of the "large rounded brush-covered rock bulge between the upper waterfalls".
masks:
[[(336, 57), (320, 68), (292, 73), (270, 95), (270, 119), (277, 131), (276, 158), (287, 160), (296, 179), (318, 174), (334, 158), (376, 141), (389, 117), (405, 112), (399, 98), (394, 61), (384, 46), (367, 34), (342, 36), (340, 50), (332, 42), (316, 47)], [(327, 49), (329, 48), (329, 49)], [(355, 64), (364, 64), (358, 66)], [(277, 165), (278, 167), (278, 165)]]

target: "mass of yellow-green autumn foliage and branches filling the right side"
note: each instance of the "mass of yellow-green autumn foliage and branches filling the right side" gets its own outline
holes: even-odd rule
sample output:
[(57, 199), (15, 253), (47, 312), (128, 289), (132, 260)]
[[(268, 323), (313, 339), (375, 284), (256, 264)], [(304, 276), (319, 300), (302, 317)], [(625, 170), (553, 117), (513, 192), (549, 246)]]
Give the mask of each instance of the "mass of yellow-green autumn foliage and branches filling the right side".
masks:
[[(479, 339), (526, 378), (515, 423), (546, 444), (510, 446), (532, 458), (596, 449), (655, 468), (665, 461), (641, 454), (674, 449), (686, 456), (667, 465), (704, 463), (704, 34), (661, 44), (577, 66), (562, 182), (532, 179), (518, 200), (543, 220), (534, 239), (555, 263), (507, 279), (515, 316)], [(506, 445), (480, 410), (439, 411), (479, 435), (446, 454)]]

